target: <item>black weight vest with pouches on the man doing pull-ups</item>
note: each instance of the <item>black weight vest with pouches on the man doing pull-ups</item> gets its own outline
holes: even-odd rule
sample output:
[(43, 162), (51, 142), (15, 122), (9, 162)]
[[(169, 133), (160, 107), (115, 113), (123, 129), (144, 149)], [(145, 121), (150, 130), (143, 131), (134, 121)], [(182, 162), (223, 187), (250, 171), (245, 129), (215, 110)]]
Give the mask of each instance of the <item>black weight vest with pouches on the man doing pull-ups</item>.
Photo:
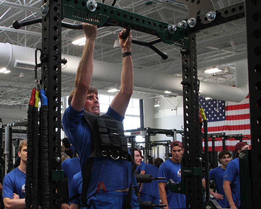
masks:
[(127, 138), (124, 136), (123, 124), (120, 121), (115, 120), (108, 114), (99, 116), (87, 111), (84, 111), (84, 117), (90, 126), (93, 141), (93, 152), (84, 166), (81, 194), (82, 206), (89, 207), (87, 204), (87, 190), (91, 180), (93, 157), (130, 161), (132, 162), (133, 173), (137, 165), (128, 153)]

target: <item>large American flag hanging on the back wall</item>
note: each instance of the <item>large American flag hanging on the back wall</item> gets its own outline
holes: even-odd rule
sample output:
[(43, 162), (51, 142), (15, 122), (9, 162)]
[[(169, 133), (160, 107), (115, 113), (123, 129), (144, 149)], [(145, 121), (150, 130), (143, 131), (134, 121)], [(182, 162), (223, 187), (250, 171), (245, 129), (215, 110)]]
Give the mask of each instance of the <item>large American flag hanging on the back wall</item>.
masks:
[[(241, 102), (227, 102), (223, 100), (199, 97), (201, 106), (207, 118), (208, 133), (225, 132), (226, 135), (242, 134), (250, 138), (249, 98)], [(203, 129), (202, 129), (203, 131)], [(243, 141), (251, 145), (250, 139), (243, 137)], [(215, 138), (215, 150), (222, 151), (222, 138)], [(204, 141), (204, 139), (203, 139)], [(239, 140), (226, 139), (226, 150), (234, 150)], [(203, 143), (204, 149), (204, 143)], [(209, 151), (212, 151), (212, 142), (209, 138)]]

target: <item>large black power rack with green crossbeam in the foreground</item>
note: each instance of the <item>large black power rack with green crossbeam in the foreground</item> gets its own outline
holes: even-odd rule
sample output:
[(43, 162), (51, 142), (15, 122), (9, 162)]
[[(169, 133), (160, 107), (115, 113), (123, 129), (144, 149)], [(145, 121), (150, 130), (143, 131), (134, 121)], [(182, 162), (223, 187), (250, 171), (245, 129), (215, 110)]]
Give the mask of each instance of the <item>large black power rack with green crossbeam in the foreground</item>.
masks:
[[(98, 26), (120, 26), (132, 30), (142, 31), (157, 36), (155, 40), (141, 43), (147, 45), (163, 59), (167, 55), (153, 46), (154, 43), (163, 41), (181, 48), (182, 55), (182, 78), (183, 81), (183, 106), (184, 106), (184, 166), (187, 174), (184, 177), (184, 192), (186, 194), (186, 208), (203, 208), (202, 183), (198, 168), (201, 162), (199, 104), (198, 104), (198, 79), (197, 79), (197, 42), (196, 32), (240, 19), (246, 16), (247, 25), (247, 53), (248, 53), (248, 79), (250, 100), (250, 126), (252, 150), (245, 152), (240, 161), (248, 162), (249, 172), (245, 176), (245, 184), (241, 184), (241, 196), (245, 197), (240, 208), (258, 208), (259, 194), (261, 192), (261, 64), (259, 63), (261, 46), (260, 43), (260, 9), (261, 2), (245, 1), (229, 7), (215, 10), (210, 0), (175, 2), (185, 4), (188, 7), (189, 19), (181, 20), (178, 26), (170, 25), (139, 14), (115, 8), (95, 1), (62, 1), (43, 0), (41, 13), (42, 22), (42, 56), (43, 84), (48, 97), (48, 149), (49, 149), (49, 205), (50, 208), (61, 207), (61, 185), (55, 178), (57, 171), (61, 169), (61, 162), (57, 162), (57, 153), (61, 152), (60, 129), (61, 129), (61, 27), (66, 26), (80, 29), (79, 26), (71, 27), (70, 24), (62, 23), (63, 18), (69, 18), (81, 22), (88, 22)], [(246, 10), (246, 11), (245, 11)], [(201, 11), (201, 13), (200, 13)], [(199, 15), (197, 14), (204, 15)], [(27, 25), (38, 21), (28, 21)], [(23, 24), (21, 24), (23, 26)], [(14, 28), (15, 25), (14, 25)], [(259, 40), (259, 42), (257, 42)], [(134, 40), (135, 42), (135, 40)], [(133, 43), (134, 43), (133, 42)], [(138, 42), (136, 42), (138, 43)], [(57, 151), (55, 151), (57, 149)], [(248, 157), (249, 156), (249, 157)], [(254, 159), (253, 163), (250, 159)], [(245, 169), (246, 170), (246, 169)], [(194, 172), (196, 171), (196, 172)], [(251, 172), (255, 171), (255, 172)], [(188, 174), (189, 173), (189, 174)], [(252, 185), (255, 185), (252, 187)], [(247, 193), (247, 196), (245, 195)], [(249, 198), (249, 197), (252, 197)], [(212, 202), (205, 208), (217, 208)]]

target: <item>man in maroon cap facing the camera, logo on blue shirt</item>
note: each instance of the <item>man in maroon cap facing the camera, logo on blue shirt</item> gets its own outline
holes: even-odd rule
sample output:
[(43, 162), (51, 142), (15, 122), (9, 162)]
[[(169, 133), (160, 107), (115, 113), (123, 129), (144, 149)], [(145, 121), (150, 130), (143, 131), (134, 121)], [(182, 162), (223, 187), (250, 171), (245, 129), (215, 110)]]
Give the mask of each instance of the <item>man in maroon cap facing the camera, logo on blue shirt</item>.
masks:
[(184, 152), (182, 143), (179, 141), (171, 142), (170, 152), (172, 154), (171, 158), (159, 166), (159, 176), (166, 177), (165, 180), (158, 180), (159, 196), (162, 204), (167, 204), (167, 207), (164, 207), (164, 209), (186, 208), (186, 196), (171, 192), (167, 185), (169, 179), (172, 179), (175, 183), (180, 183), (181, 181), (180, 163)]

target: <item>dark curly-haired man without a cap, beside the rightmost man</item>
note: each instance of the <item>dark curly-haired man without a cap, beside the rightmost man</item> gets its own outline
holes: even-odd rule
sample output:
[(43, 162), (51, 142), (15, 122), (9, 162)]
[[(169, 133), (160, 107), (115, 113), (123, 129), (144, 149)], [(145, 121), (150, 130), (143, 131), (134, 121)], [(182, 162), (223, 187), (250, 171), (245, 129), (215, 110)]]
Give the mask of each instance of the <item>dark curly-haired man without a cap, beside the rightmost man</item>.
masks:
[[(221, 164), (221, 166), (218, 166), (212, 170), (209, 171), (209, 181), (214, 180), (217, 188), (217, 192), (213, 192), (211, 189), (209, 189), (210, 194), (216, 198), (218, 204), (225, 208), (226, 206), (226, 195), (224, 193), (223, 189), (223, 178), (224, 173), (226, 170), (226, 165), (230, 162), (232, 154), (228, 152), (227, 150), (223, 150), (218, 154), (218, 162)], [(206, 188), (206, 181), (205, 177), (202, 179), (203, 187)]]

